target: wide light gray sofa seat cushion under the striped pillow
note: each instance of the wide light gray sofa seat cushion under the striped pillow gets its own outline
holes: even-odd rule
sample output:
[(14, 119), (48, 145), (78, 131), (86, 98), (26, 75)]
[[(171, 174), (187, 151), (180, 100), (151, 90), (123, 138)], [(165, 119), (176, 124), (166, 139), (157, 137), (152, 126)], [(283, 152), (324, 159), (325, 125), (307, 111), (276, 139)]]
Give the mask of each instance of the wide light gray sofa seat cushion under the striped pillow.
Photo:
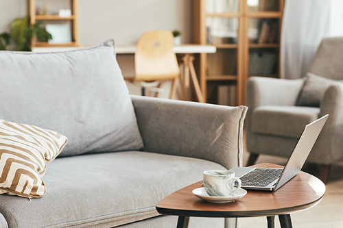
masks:
[(43, 180), (40, 199), (1, 196), (9, 227), (115, 227), (158, 216), (156, 204), (172, 192), (222, 169), (214, 162), (141, 151), (60, 157)]

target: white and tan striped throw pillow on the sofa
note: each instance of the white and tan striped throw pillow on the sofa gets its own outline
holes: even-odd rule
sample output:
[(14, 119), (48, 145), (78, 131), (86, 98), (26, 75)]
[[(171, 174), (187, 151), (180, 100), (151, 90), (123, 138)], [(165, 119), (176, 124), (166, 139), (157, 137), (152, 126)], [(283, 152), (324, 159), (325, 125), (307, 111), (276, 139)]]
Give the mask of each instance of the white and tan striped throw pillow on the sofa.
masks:
[(0, 120), (0, 194), (43, 197), (40, 178), (67, 142), (55, 131)]

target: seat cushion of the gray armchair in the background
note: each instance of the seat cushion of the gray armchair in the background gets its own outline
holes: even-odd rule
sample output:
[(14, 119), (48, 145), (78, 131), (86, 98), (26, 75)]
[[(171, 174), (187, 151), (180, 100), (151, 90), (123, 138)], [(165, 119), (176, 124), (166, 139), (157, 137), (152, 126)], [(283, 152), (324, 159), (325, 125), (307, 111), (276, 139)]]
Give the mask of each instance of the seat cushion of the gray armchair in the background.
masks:
[(319, 107), (261, 105), (252, 112), (251, 131), (298, 138), (319, 112)]

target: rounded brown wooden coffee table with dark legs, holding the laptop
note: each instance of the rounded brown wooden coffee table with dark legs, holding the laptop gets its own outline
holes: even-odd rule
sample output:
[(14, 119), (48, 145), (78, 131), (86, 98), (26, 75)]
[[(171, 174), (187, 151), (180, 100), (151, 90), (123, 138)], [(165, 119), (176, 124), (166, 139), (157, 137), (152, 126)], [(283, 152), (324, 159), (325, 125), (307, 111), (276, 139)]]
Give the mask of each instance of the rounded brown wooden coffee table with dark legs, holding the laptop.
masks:
[[(257, 167), (283, 168), (274, 164), (257, 164)], [(248, 190), (246, 196), (230, 203), (211, 203), (196, 197), (192, 190), (202, 187), (202, 181), (193, 183), (165, 197), (156, 205), (161, 214), (178, 216), (177, 227), (188, 227), (189, 217), (255, 217), (267, 216), (268, 227), (274, 227), (279, 216), (281, 227), (292, 227), (290, 213), (317, 205), (325, 192), (325, 185), (308, 173), (298, 175), (276, 192)]]

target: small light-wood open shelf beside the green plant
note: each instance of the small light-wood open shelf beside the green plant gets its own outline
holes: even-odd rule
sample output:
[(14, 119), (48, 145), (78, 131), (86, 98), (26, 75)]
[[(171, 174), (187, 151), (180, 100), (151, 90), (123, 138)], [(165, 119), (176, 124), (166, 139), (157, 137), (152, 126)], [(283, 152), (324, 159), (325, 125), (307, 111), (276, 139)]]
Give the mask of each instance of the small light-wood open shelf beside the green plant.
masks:
[[(47, 1), (47, 0), (46, 0)], [(58, 1), (58, 0), (49, 0), (49, 1)], [(45, 23), (49, 21), (65, 21), (70, 23), (71, 29), (71, 42), (66, 43), (59, 43), (59, 44), (51, 44), (49, 42), (38, 42), (35, 38), (32, 39), (32, 47), (79, 47), (79, 33), (78, 33), (78, 8), (79, 3), (78, 0), (69, 0), (70, 1), (70, 10), (71, 16), (69, 17), (60, 17), (58, 14), (47, 14), (47, 15), (40, 15), (37, 13), (38, 11), (38, 1), (36, 0), (29, 0), (29, 16), (30, 16), (30, 23), (34, 25), (36, 21), (44, 21)], [(42, 5), (40, 5), (42, 7)]]

